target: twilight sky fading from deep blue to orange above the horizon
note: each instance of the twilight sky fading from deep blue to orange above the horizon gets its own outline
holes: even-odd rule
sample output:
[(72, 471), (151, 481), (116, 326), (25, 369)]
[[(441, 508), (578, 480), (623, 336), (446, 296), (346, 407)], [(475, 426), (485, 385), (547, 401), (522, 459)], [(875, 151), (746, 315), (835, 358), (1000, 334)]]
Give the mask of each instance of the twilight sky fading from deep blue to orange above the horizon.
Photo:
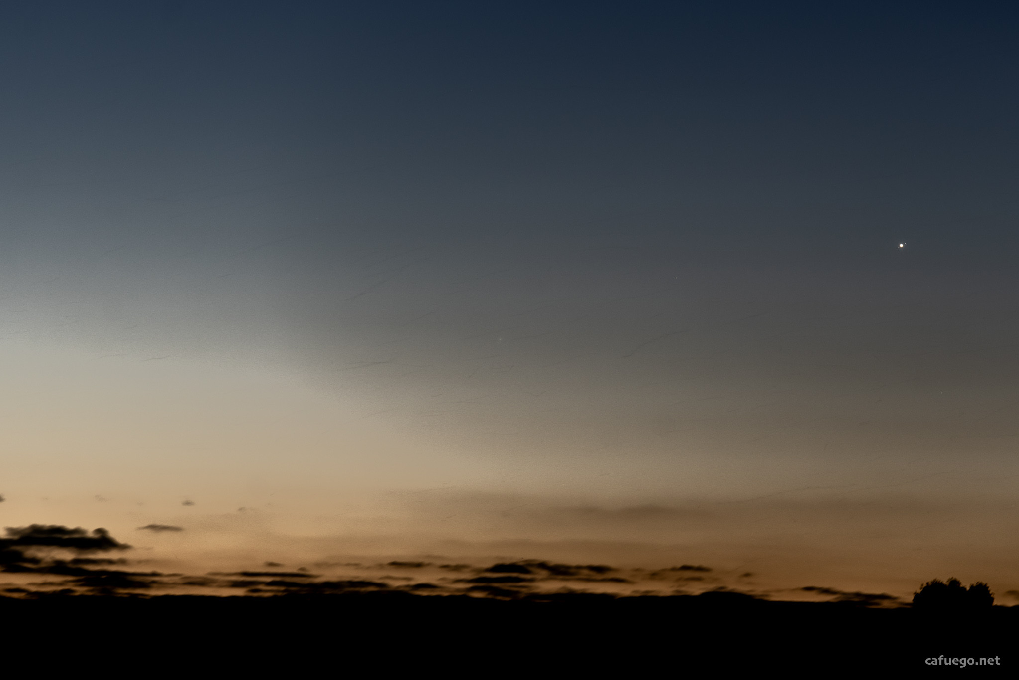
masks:
[(1019, 590), (1014, 6), (0, 19), (0, 525)]

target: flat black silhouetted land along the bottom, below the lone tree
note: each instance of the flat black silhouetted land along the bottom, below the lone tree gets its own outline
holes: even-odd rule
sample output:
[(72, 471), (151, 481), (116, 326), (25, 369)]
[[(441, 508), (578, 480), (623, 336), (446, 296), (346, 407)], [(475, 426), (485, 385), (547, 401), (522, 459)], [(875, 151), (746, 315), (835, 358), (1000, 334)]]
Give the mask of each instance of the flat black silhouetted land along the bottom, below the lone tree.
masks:
[[(0, 598), (5, 657), (52, 670), (450, 677), (1008, 674), (1019, 608), (925, 613), (737, 593), (502, 600), (366, 593)], [(976, 666), (931, 665), (937, 657)], [(980, 666), (980, 658), (994, 666)], [(324, 665), (324, 666), (323, 666)], [(330, 670), (331, 669), (331, 670)], [(359, 675), (361, 672), (358, 672)], [(741, 675), (741, 677), (742, 677)]]

